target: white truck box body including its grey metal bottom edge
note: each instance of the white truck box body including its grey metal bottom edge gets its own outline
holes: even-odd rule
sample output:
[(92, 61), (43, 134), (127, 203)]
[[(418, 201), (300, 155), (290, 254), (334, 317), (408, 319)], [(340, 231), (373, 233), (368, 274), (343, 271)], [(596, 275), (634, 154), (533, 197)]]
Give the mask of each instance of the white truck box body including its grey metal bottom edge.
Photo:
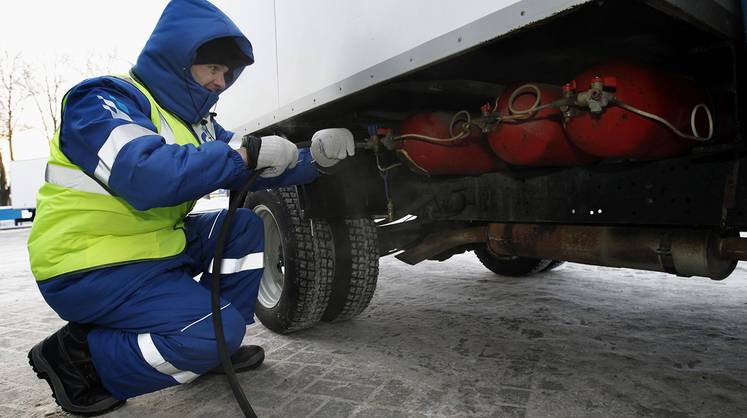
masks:
[[(223, 95), (219, 120), (253, 132), (588, 2), (215, 0), (256, 59)], [(735, 0), (650, 3), (711, 30), (738, 31)]]

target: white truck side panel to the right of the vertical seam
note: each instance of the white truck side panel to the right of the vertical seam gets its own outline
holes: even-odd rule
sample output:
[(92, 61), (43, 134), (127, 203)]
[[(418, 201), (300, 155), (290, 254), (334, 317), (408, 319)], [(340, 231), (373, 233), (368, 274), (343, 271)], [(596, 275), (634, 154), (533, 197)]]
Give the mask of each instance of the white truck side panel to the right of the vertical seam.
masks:
[(285, 105), (517, 0), (277, 0)]

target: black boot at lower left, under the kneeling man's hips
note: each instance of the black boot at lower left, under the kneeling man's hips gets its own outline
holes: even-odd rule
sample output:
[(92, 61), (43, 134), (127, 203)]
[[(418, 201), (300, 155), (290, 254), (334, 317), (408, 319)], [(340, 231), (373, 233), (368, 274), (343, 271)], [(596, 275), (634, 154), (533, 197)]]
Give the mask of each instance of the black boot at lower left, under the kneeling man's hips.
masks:
[(91, 327), (68, 323), (29, 351), (29, 364), (65, 411), (98, 415), (122, 406), (104, 389), (88, 350)]

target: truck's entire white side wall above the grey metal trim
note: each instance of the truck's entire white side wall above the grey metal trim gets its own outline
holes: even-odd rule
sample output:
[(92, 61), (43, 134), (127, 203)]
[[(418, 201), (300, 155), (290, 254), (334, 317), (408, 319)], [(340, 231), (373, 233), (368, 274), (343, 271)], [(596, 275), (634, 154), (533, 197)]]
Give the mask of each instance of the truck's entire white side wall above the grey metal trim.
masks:
[(256, 58), (222, 95), (218, 120), (234, 128), (518, 2), (214, 0)]

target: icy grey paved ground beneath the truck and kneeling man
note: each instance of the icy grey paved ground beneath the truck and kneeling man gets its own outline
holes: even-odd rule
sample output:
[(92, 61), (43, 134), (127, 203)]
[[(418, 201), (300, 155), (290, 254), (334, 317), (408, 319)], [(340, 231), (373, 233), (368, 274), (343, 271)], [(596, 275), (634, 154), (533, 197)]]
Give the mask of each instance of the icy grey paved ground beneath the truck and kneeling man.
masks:
[[(26, 352), (62, 321), (28, 271), (28, 229), (0, 231), (0, 416), (63, 416)], [(239, 375), (278, 417), (747, 416), (747, 270), (722, 282), (566, 264), (496, 276), (471, 255), (381, 262), (358, 319), (289, 336)], [(111, 417), (234, 417), (223, 376), (131, 399)]]

